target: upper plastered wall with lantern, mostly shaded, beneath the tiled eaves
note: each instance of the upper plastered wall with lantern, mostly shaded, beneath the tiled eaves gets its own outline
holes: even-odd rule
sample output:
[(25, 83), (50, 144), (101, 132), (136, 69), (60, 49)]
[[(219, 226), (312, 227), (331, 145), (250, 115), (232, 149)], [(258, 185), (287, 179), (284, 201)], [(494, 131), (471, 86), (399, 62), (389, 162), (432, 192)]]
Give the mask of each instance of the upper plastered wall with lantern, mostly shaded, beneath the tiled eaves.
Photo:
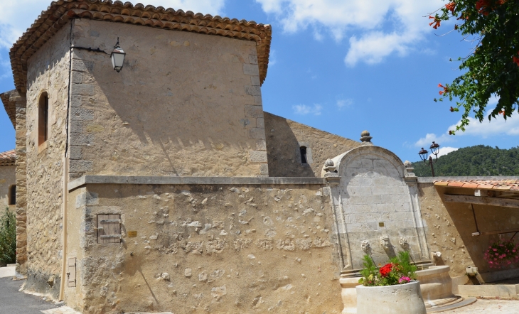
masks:
[[(107, 28), (110, 29), (107, 32)], [(70, 177), (268, 176), (255, 43), (75, 20)]]

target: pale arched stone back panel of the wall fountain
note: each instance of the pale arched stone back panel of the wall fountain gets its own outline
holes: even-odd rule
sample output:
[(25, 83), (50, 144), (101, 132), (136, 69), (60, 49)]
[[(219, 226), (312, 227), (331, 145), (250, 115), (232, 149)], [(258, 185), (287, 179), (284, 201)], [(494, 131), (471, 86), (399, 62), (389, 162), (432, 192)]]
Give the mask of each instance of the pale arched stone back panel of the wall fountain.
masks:
[(366, 244), (377, 264), (402, 250), (409, 250), (414, 261), (429, 259), (416, 180), (400, 158), (385, 148), (367, 145), (332, 161), (340, 178), (332, 196), (341, 224), (343, 272), (362, 268)]

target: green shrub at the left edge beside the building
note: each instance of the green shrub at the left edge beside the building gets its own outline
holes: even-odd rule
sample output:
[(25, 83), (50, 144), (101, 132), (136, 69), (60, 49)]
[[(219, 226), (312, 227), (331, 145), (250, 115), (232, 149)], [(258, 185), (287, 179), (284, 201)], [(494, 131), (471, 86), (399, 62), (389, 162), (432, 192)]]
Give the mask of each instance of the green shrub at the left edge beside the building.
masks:
[(0, 263), (16, 263), (16, 217), (7, 208), (0, 217)]

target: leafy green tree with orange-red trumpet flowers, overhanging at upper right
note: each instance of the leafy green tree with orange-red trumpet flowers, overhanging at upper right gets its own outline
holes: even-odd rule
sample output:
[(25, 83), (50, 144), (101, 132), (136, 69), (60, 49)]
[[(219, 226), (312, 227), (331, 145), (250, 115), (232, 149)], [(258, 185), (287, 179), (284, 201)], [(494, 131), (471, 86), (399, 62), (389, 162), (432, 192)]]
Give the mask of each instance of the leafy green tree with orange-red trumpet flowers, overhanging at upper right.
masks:
[(435, 29), (442, 21), (456, 19), (454, 30), (475, 43), (469, 55), (459, 58), (464, 74), (450, 85), (438, 85), (441, 97), (434, 101), (458, 98), (451, 112), (463, 111), (461, 123), (449, 134), (465, 131), (471, 112), (483, 121), (493, 95), (499, 100), (488, 114), (489, 120), (519, 112), (519, 1), (456, 0), (429, 18)]

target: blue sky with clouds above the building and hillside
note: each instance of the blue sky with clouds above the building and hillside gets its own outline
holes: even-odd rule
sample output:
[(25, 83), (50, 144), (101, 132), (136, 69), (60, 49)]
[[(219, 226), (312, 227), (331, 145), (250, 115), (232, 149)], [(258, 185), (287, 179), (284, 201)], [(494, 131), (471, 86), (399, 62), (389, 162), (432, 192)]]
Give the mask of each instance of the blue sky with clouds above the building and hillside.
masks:
[[(50, 0), (2, 4), (0, 92), (12, 90), (9, 48)], [(149, 0), (172, 7), (272, 24), (264, 110), (358, 141), (367, 129), (373, 143), (402, 161), (417, 161), (422, 146), (437, 141), (440, 153), (478, 144), (519, 145), (519, 117), (473, 121), (456, 136), (447, 132), (460, 114), (434, 102), (439, 83), (460, 72), (472, 43), (458, 33), (429, 27), (427, 13), (445, 1), (416, 0)], [(425, 17), (424, 17), (425, 16)], [(14, 148), (14, 129), (0, 109), (0, 151)], [(332, 157), (332, 156), (331, 156)]]

